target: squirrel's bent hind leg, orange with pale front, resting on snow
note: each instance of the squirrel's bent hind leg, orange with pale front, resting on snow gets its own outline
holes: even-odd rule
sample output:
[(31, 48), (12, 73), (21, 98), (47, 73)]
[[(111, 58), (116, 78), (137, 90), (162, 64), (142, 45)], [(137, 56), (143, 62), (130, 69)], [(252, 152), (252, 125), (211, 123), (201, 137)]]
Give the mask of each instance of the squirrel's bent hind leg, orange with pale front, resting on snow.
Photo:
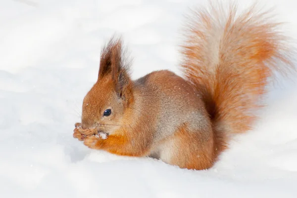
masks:
[(207, 169), (214, 162), (212, 131), (189, 131), (183, 125), (160, 145), (160, 159), (188, 169)]

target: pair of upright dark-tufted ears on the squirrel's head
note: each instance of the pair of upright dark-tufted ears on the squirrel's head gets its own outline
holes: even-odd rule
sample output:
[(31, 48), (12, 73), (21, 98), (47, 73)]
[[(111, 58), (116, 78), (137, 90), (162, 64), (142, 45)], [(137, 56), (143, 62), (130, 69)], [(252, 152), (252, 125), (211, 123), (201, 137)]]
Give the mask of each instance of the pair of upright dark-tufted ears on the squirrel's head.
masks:
[(98, 80), (112, 75), (115, 91), (126, 101), (132, 97), (132, 80), (129, 75), (130, 60), (122, 46), (122, 40), (111, 38), (101, 52)]

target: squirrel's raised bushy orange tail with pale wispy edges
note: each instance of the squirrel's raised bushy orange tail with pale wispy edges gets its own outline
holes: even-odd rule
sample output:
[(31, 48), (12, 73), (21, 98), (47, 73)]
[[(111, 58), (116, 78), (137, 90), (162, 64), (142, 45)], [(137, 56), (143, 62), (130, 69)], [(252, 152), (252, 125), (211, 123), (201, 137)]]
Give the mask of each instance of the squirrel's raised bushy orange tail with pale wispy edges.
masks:
[(280, 24), (269, 22), (269, 12), (217, 7), (189, 15), (181, 69), (201, 91), (216, 131), (245, 132), (275, 72), (294, 70), (290, 48)]

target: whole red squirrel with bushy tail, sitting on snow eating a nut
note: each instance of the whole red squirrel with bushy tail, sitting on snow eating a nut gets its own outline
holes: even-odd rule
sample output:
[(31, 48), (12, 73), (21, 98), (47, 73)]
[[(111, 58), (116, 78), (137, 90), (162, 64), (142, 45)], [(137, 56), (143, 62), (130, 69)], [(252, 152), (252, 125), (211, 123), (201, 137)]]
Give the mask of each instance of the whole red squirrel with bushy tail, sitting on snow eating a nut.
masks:
[(212, 167), (233, 134), (252, 129), (275, 73), (294, 68), (287, 37), (269, 12), (222, 7), (188, 14), (180, 76), (160, 70), (132, 80), (123, 41), (112, 37), (73, 136), (116, 155)]

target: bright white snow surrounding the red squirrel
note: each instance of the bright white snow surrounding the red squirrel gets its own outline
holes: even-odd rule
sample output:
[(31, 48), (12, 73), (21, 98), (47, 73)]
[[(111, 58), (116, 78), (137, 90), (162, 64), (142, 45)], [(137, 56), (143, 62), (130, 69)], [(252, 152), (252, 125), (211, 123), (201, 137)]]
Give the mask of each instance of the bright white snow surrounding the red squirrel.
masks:
[[(119, 157), (72, 137), (103, 43), (123, 35), (134, 79), (177, 72), (182, 16), (201, 3), (0, 1), (0, 197), (296, 198), (297, 88), (286, 80), (270, 92), (255, 129), (236, 136), (209, 170)], [(275, 6), (297, 38), (296, 2), (263, 4)]]

